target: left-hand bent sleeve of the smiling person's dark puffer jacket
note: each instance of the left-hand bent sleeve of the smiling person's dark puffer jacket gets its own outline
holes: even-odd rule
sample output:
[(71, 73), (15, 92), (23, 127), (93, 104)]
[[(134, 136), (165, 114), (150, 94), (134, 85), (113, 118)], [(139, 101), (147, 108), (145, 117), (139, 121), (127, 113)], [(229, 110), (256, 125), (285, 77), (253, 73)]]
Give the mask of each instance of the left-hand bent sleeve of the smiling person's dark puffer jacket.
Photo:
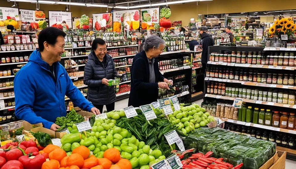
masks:
[[(88, 62), (86, 62), (86, 64), (85, 64), (83, 82), (85, 85), (87, 85), (89, 87), (98, 87), (102, 84), (102, 80), (92, 79), (93, 69), (92, 69), (91, 62), (92, 62), (91, 60), (88, 60)], [(114, 63), (113, 63), (113, 65), (114, 65)]]

